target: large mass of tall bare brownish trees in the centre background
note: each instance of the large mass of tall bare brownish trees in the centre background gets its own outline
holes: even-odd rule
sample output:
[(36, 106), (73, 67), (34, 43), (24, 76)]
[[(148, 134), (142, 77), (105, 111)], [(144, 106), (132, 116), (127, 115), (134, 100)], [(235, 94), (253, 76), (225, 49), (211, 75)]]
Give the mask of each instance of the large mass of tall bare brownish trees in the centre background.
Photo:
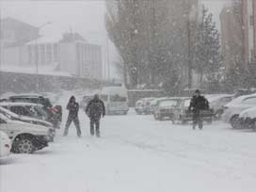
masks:
[(197, 0), (107, 0), (105, 26), (131, 84), (183, 82), (186, 17)]

